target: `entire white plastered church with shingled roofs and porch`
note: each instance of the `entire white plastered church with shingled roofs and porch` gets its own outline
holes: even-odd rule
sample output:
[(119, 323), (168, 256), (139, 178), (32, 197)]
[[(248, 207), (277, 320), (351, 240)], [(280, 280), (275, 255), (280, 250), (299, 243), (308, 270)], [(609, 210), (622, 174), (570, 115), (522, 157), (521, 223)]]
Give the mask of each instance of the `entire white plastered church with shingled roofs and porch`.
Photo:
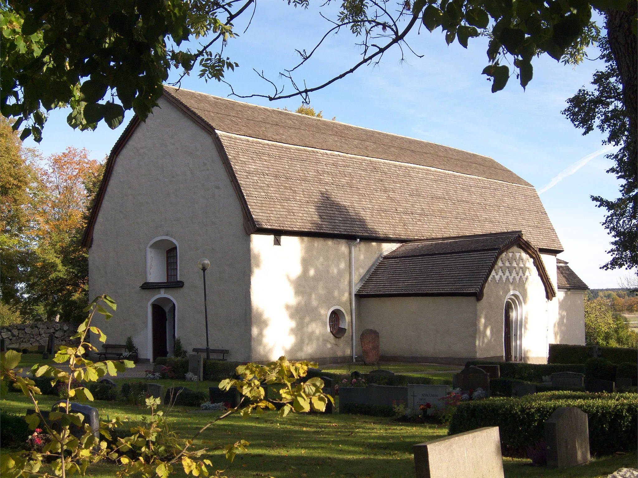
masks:
[[(234, 361), (547, 361), (586, 284), (537, 191), (493, 159), (165, 87), (108, 157), (84, 235), (108, 343)], [(94, 344), (98, 347), (101, 344)]]

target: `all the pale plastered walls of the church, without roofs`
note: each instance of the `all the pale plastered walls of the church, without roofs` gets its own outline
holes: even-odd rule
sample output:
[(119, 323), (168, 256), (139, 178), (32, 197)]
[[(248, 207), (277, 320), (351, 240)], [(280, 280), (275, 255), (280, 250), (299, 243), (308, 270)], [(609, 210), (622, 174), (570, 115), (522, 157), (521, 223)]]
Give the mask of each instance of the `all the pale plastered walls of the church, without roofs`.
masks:
[[(108, 343), (123, 344), (131, 336), (140, 358), (152, 360), (156, 305), (167, 317), (168, 354), (174, 337), (188, 351), (205, 347), (201, 257), (211, 261), (210, 347), (230, 350), (226, 358), (234, 361), (281, 355), (349, 361), (353, 342), (355, 354), (361, 354), (359, 334), (365, 328), (379, 331), (387, 359), (500, 360), (508, 300), (519, 305), (523, 361), (546, 361), (550, 343), (584, 343), (582, 293), (560, 292), (547, 300), (537, 267), (517, 247), (500, 257), (482, 300), (353, 300), (353, 290), (399, 243), (246, 233), (241, 202), (211, 134), (165, 99), (159, 106), (117, 156), (89, 247), (91, 298), (109, 294), (117, 302), (110, 321), (96, 321)], [(173, 247), (183, 285), (153, 286), (167, 281), (166, 254)], [(556, 256), (542, 254), (542, 261), (555, 288)], [(335, 308), (347, 329), (340, 338), (328, 327)]]

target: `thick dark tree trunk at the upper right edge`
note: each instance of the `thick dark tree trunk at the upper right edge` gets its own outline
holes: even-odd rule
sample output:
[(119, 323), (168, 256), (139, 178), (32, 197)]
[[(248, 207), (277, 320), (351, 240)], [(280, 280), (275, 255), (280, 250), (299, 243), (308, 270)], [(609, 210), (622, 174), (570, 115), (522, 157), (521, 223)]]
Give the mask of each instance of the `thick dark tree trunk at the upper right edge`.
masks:
[[(623, 83), (623, 103), (629, 117), (629, 129), (635, 139), (638, 128), (638, 48), (637, 38), (632, 32), (632, 18), (638, 10), (636, 0), (629, 0), (628, 11), (614, 10), (607, 13), (607, 38), (614, 55), (616, 67)], [(638, 158), (635, 141), (632, 152), (634, 177), (637, 171)]]

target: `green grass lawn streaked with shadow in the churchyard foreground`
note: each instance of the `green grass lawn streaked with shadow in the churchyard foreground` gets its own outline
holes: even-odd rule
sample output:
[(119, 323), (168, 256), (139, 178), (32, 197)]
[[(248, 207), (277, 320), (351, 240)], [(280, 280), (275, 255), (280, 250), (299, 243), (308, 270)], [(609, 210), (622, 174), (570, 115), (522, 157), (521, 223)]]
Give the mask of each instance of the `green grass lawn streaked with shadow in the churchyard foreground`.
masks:
[[(164, 380), (162, 381), (164, 382)], [(191, 382), (192, 385), (192, 382)], [(201, 385), (201, 384), (200, 384)], [(44, 409), (56, 402), (41, 396)], [(26, 399), (10, 393), (3, 410), (24, 413)], [(101, 417), (135, 417), (144, 407), (119, 402), (94, 402)], [(184, 437), (195, 433), (215, 414), (190, 413), (175, 407), (174, 426)], [(396, 423), (392, 419), (352, 415), (290, 415), (280, 419), (276, 412), (243, 420), (231, 417), (205, 431), (197, 444), (209, 449), (214, 468), (229, 478), (394, 478), (414, 477), (412, 445), (447, 434), (445, 426)], [(221, 446), (248, 440), (248, 453), (234, 463), (225, 460)], [(570, 470), (532, 467), (529, 460), (504, 459), (505, 476), (510, 477), (606, 477), (621, 467), (636, 467), (634, 455), (607, 457)], [(113, 465), (91, 468), (90, 476), (112, 477)], [(182, 476), (179, 472), (177, 476)]]

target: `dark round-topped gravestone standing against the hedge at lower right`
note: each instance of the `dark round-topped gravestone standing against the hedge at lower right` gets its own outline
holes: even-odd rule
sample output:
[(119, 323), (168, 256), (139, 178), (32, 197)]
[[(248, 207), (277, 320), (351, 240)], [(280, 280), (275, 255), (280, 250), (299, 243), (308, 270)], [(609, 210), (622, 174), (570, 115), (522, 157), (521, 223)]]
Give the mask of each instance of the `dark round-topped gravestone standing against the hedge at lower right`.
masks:
[(547, 467), (574, 467), (590, 460), (587, 414), (576, 407), (560, 407), (545, 422)]

